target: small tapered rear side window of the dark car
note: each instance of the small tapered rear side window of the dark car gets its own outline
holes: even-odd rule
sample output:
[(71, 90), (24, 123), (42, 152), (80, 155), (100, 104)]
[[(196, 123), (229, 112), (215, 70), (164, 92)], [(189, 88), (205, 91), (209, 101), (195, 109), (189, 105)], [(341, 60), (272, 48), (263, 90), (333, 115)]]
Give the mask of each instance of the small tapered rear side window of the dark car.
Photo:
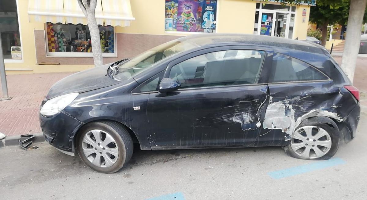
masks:
[(298, 59), (279, 53), (273, 56), (269, 83), (327, 79), (323, 73)]

